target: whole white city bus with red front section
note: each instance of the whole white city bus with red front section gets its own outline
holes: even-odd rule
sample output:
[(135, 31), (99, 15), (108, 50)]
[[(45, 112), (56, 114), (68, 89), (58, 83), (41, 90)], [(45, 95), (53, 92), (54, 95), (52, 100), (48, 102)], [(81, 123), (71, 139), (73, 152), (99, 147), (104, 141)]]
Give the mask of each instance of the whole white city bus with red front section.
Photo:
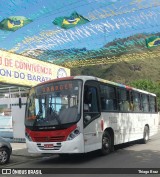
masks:
[(105, 155), (158, 132), (156, 95), (92, 76), (50, 80), (30, 90), (25, 127), (31, 153)]

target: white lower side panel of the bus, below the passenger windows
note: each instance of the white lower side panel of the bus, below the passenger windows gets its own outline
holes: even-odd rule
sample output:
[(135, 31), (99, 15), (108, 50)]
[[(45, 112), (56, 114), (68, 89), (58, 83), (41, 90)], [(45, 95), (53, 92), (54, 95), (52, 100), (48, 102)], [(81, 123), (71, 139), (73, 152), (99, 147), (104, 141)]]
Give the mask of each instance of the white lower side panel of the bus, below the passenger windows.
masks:
[(99, 143), (102, 141), (103, 130), (111, 128), (114, 133), (114, 145), (143, 138), (145, 125), (149, 125), (150, 136), (158, 132), (158, 116), (150, 113), (108, 113), (103, 112), (97, 120)]

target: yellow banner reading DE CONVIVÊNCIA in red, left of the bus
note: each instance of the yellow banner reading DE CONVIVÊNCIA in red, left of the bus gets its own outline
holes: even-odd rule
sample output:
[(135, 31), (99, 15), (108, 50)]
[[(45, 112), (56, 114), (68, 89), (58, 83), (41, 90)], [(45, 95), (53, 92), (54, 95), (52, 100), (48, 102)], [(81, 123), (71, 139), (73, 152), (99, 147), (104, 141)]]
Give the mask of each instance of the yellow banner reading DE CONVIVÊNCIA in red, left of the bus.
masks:
[(0, 82), (34, 86), (66, 76), (68, 68), (0, 50)]

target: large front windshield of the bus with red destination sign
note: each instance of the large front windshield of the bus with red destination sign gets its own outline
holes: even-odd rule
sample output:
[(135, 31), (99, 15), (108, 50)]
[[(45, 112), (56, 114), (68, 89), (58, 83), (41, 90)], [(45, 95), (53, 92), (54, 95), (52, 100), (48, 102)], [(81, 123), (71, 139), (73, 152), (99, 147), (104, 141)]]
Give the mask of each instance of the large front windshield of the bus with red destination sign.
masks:
[(80, 119), (82, 81), (42, 84), (30, 90), (25, 125), (38, 129), (61, 127)]

